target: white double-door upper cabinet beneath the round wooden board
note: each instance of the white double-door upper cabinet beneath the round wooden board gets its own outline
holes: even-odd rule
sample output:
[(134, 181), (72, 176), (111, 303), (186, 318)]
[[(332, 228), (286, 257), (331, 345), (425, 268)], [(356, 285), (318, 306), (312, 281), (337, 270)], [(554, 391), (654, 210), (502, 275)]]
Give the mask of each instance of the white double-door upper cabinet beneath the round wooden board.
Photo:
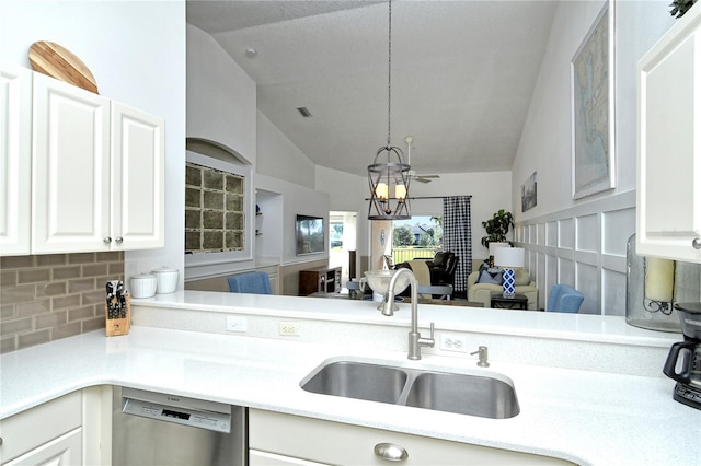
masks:
[(164, 123), (35, 74), (32, 252), (164, 245)]

